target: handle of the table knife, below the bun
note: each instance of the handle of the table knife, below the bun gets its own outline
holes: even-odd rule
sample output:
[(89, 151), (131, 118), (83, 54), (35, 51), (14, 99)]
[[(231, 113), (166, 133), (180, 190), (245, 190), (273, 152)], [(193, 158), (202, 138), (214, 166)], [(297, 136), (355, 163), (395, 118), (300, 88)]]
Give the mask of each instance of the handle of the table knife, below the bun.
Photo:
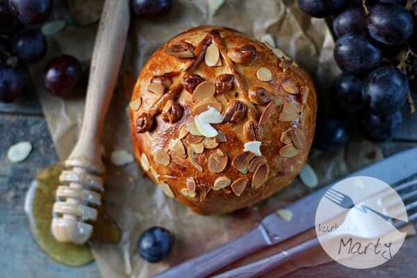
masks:
[(243, 234), (229, 243), (221, 245), (194, 259), (190, 259), (155, 275), (154, 278), (202, 278), (229, 265), (247, 254), (252, 254), (262, 247), (268, 246), (268, 236), (261, 225)]

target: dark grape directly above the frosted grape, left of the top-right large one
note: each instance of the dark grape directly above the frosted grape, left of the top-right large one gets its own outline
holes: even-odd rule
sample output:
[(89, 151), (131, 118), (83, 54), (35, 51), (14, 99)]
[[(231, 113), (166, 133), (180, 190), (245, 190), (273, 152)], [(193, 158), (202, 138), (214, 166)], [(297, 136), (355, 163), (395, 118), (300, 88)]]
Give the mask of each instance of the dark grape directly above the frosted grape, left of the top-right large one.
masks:
[(363, 9), (351, 7), (344, 10), (333, 19), (333, 30), (338, 38), (348, 33), (367, 34), (368, 26), (366, 26), (366, 16), (363, 14)]

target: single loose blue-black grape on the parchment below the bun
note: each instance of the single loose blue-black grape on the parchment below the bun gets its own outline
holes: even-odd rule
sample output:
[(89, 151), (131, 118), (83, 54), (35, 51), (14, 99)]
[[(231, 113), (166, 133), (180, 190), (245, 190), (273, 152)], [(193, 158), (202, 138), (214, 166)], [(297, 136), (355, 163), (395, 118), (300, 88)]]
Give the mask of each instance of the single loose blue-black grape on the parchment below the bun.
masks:
[(138, 252), (149, 263), (157, 263), (170, 254), (173, 240), (174, 237), (167, 229), (162, 227), (149, 228), (140, 235)]

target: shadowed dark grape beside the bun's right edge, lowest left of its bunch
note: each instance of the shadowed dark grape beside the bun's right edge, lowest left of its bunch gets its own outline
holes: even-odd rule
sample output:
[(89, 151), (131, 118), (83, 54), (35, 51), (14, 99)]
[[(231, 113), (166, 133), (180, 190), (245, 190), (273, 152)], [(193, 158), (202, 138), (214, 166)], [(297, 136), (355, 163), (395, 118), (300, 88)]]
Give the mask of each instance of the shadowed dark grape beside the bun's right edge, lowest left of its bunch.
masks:
[(314, 147), (323, 151), (346, 145), (349, 136), (347, 123), (339, 117), (320, 116), (317, 120)]

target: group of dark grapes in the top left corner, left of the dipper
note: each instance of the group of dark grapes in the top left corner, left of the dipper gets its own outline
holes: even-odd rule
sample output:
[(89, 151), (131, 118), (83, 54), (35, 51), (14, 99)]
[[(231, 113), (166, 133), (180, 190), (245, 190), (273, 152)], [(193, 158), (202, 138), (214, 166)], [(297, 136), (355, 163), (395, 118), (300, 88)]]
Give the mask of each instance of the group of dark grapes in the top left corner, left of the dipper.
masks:
[[(0, 0), (0, 101), (24, 99), (31, 81), (28, 64), (38, 62), (47, 53), (47, 42), (39, 26), (51, 15), (52, 3), (52, 0)], [(44, 87), (51, 94), (65, 96), (80, 79), (79, 60), (60, 56), (48, 63)]]

